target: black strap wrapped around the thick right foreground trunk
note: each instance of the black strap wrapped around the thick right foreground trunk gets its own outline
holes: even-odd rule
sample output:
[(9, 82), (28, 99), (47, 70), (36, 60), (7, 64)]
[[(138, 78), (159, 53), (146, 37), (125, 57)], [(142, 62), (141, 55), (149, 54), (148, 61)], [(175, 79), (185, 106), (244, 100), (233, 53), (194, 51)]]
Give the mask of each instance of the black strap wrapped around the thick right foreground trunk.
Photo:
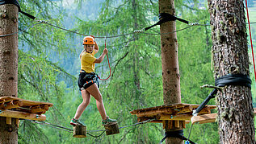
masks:
[[(215, 85), (218, 87), (224, 87), (225, 85), (240, 85), (251, 88), (250, 76), (242, 74), (229, 74), (221, 76), (215, 80)], [(208, 102), (216, 96), (217, 88), (214, 88), (208, 97), (199, 105), (197, 109), (193, 112), (193, 115), (199, 113)]]

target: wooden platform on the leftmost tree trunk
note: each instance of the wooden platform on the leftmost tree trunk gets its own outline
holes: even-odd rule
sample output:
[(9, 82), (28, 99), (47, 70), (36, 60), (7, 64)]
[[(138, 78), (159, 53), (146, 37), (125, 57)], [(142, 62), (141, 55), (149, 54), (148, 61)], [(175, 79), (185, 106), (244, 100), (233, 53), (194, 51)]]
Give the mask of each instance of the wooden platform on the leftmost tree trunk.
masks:
[(45, 121), (44, 113), (52, 103), (29, 101), (18, 97), (0, 97), (0, 116)]

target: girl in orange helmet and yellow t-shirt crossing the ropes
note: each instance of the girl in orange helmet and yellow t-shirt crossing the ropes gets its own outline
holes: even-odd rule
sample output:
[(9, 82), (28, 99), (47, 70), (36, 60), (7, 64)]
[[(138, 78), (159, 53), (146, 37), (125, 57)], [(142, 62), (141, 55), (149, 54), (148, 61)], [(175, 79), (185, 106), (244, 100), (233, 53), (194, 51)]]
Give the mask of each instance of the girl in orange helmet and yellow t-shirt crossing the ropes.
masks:
[(99, 51), (98, 44), (95, 42), (93, 36), (86, 36), (83, 39), (84, 49), (80, 54), (81, 71), (78, 78), (78, 86), (82, 93), (82, 103), (78, 106), (77, 112), (73, 119), (70, 121), (70, 125), (84, 125), (79, 121), (83, 111), (90, 104), (90, 95), (96, 100), (96, 105), (101, 117), (103, 118), (103, 125), (109, 125), (116, 120), (107, 117), (106, 110), (103, 105), (103, 97), (99, 92), (99, 81), (97, 75), (94, 73), (95, 63), (101, 63), (104, 57), (107, 55), (107, 48), (103, 50), (103, 53), (99, 58), (95, 58), (94, 55)]

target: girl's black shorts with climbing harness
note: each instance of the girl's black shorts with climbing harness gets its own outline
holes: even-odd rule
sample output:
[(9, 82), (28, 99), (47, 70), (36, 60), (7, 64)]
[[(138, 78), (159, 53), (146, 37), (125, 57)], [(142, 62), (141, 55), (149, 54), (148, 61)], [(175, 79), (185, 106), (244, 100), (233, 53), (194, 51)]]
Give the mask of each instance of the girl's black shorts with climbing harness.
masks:
[(94, 73), (86, 73), (86, 72), (81, 72), (78, 77), (78, 87), (79, 90), (81, 91), (82, 89), (89, 88), (90, 85), (94, 83), (98, 83), (99, 87), (99, 82), (97, 80), (97, 76)]

